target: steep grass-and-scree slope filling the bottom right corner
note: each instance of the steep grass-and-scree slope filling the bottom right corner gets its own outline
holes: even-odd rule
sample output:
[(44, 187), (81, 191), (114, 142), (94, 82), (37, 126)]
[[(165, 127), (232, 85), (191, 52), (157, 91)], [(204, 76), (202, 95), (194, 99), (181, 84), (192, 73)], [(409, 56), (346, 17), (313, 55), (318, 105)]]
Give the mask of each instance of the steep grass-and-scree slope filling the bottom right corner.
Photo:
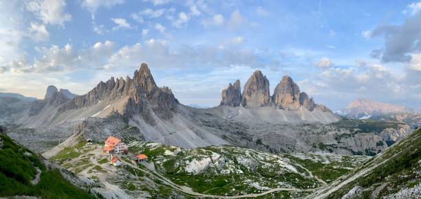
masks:
[(421, 129), (308, 198), (420, 198)]

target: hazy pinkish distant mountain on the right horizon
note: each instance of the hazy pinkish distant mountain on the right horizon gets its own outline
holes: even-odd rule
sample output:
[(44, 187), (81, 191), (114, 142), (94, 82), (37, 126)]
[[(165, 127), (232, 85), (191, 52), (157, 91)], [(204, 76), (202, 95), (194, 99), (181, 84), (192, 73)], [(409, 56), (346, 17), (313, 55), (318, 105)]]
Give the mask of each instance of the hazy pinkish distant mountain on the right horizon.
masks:
[(336, 111), (339, 115), (354, 119), (367, 119), (377, 115), (389, 115), (396, 113), (410, 113), (411, 110), (405, 106), (398, 106), (372, 100), (358, 99), (349, 103), (347, 108)]

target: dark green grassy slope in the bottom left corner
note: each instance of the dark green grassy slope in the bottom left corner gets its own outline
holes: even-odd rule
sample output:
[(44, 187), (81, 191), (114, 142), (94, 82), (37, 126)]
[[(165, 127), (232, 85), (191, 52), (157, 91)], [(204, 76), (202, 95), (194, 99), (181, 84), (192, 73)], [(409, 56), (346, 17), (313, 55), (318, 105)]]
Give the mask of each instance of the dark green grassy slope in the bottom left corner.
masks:
[(0, 160), (0, 197), (95, 198), (5, 134), (0, 134)]

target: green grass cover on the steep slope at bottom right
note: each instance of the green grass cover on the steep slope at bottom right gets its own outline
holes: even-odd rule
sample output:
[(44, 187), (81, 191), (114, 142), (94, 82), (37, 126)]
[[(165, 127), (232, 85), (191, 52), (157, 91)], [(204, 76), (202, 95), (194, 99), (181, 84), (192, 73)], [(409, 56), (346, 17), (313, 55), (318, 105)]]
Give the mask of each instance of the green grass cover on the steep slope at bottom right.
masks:
[[(379, 188), (380, 191), (378, 191), (376, 198), (396, 193), (400, 189), (411, 188), (421, 183), (419, 176), (420, 162), (421, 129), (418, 129), (399, 143), (391, 146), (384, 154), (365, 163), (364, 167), (354, 170), (352, 174), (356, 174), (361, 169), (377, 165), (369, 174), (357, 178), (331, 194), (329, 198), (341, 198), (356, 186), (363, 187), (363, 198), (370, 198), (371, 194), (381, 185), (385, 186)], [(349, 176), (352, 174), (349, 174)]]

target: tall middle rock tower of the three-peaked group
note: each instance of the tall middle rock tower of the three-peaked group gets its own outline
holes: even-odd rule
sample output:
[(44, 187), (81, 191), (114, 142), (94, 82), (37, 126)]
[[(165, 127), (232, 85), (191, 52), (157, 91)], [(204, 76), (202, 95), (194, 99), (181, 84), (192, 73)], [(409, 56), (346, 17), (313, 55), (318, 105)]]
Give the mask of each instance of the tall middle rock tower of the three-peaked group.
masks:
[(244, 107), (270, 106), (269, 80), (261, 71), (255, 71), (244, 86), (241, 105)]

